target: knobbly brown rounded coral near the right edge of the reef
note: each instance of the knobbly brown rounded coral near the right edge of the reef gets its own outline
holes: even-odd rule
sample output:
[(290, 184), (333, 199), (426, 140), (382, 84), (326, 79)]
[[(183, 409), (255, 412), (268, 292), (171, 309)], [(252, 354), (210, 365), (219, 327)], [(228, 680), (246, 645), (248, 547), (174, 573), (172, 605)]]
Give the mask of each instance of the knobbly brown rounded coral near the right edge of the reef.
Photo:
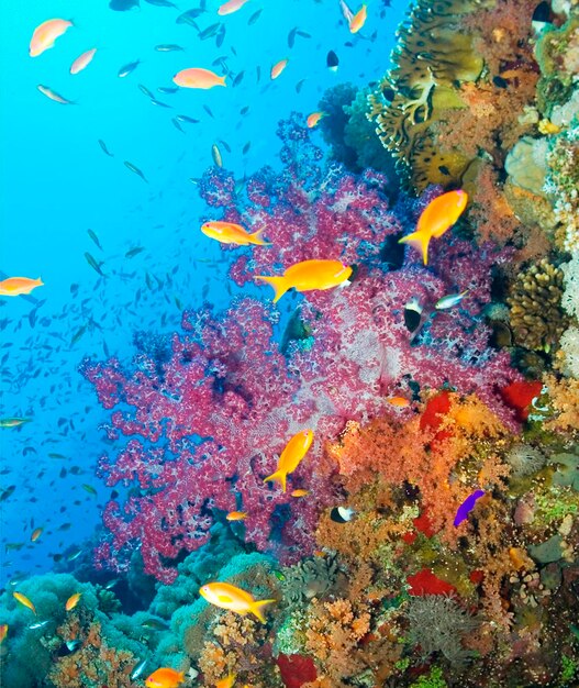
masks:
[(511, 330), (519, 346), (549, 352), (567, 326), (561, 309), (563, 270), (547, 258), (520, 273), (511, 286)]

